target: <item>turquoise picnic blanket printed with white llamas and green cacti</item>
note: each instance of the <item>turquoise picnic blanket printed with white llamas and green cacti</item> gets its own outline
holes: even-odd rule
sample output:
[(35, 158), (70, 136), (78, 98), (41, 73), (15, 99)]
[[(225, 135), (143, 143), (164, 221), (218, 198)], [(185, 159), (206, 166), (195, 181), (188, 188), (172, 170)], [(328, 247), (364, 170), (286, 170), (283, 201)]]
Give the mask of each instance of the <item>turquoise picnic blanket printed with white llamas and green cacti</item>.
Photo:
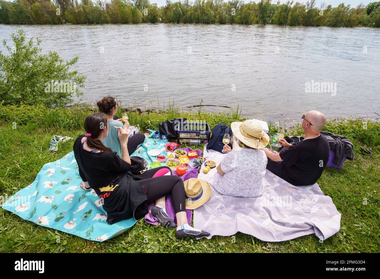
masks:
[[(156, 158), (147, 152), (153, 148), (165, 150), (166, 143), (145, 139), (132, 155), (146, 159), (149, 164)], [(99, 197), (93, 190), (83, 190), (79, 186), (81, 182), (74, 151), (71, 151), (45, 164), (35, 181), (11, 196), (2, 207), (35, 224), (95, 241), (113, 238), (136, 223), (130, 218), (109, 225)]]

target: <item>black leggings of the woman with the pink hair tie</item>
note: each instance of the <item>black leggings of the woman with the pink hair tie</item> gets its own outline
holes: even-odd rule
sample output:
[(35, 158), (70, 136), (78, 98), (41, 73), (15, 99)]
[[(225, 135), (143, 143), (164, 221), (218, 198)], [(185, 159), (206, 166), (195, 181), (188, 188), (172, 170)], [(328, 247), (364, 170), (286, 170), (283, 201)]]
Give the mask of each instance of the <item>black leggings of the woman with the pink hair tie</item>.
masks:
[[(157, 170), (169, 169), (169, 167), (163, 166), (147, 170), (146, 172), (139, 175), (143, 178), (137, 182), (146, 192), (148, 197), (147, 203), (155, 202), (155, 200), (160, 199), (166, 195), (171, 194), (171, 199), (174, 207), (174, 212), (185, 211), (185, 188), (184, 181), (180, 177), (174, 175), (163, 175), (158, 177), (153, 177)], [(170, 170), (171, 173), (171, 170)], [(152, 178), (153, 177), (153, 178)]]

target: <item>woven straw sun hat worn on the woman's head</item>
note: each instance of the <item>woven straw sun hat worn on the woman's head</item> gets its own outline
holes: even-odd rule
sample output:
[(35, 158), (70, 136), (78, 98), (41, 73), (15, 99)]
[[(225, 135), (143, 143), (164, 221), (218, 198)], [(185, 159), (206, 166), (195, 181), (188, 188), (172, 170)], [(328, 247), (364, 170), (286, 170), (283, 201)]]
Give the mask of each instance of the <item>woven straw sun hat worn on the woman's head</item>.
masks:
[(263, 131), (263, 127), (256, 120), (244, 122), (232, 122), (231, 129), (241, 142), (252, 148), (263, 148), (269, 143), (269, 136)]

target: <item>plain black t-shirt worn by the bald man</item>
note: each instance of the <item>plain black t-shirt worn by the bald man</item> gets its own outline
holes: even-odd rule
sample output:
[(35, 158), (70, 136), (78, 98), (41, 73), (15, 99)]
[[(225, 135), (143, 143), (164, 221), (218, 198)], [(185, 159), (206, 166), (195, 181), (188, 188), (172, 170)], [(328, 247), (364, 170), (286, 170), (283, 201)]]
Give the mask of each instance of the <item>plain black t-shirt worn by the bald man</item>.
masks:
[(282, 178), (296, 186), (311, 185), (321, 177), (329, 160), (329, 142), (320, 135), (280, 151)]

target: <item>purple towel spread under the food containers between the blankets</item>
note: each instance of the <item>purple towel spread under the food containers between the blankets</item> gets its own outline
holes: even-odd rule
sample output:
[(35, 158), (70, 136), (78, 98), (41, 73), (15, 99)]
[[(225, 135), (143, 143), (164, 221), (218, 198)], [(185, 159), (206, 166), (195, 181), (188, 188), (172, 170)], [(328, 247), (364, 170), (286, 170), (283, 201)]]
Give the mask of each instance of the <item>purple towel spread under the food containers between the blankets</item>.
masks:
[[(178, 149), (184, 150), (186, 152), (193, 150), (191, 147), (178, 148)], [(196, 149), (195, 151), (196, 151), (196, 153), (198, 153), (198, 156), (202, 156), (201, 150)], [(173, 171), (173, 175), (177, 175), (177, 172)], [(184, 175), (180, 176), (180, 178), (182, 178), (183, 181), (186, 181), (189, 178), (197, 178), (197, 176), (198, 176), (198, 168), (193, 168), (193, 169), (187, 171)], [(154, 203), (150, 203), (148, 205), (149, 212), (145, 215), (145, 222), (147, 222), (148, 224), (158, 226), (157, 218), (153, 217), (152, 214), (150, 214), (150, 210), (152, 209), (153, 206), (154, 206)], [(166, 213), (168, 213), (169, 217), (171, 219), (173, 219), (174, 222), (177, 224), (176, 214), (174, 213), (173, 204), (171, 203), (171, 195), (168, 195), (166, 197), (165, 210), (166, 210)], [(188, 210), (188, 209), (186, 210), (187, 223), (189, 225), (191, 225), (192, 213), (193, 213), (192, 210)]]

